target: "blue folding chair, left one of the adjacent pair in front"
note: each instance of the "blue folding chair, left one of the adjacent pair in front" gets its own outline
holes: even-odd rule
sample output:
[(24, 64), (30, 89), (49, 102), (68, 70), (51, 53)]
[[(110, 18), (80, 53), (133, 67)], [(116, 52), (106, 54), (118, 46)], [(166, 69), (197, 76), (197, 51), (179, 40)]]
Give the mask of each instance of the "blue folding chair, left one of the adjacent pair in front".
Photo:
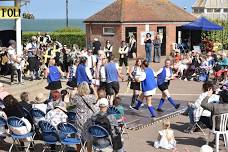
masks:
[(46, 145), (46, 147), (43, 149), (44, 152), (47, 148), (50, 148), (50, 145), (55, 145), (58, 143), (59, 136), (56, 128), (49, 122), (41, 120), (39, 121), (38, 125), (41, 129), (43, 141)]

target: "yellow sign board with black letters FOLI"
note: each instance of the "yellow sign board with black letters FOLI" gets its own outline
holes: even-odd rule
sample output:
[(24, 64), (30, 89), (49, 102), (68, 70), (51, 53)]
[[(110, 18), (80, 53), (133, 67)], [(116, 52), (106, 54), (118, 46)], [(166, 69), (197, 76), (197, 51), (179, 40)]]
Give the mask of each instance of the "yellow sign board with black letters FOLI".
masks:
[(21, 10), (19, 7), (0, 7), (0, 19), (17, 19), (21, 16)]

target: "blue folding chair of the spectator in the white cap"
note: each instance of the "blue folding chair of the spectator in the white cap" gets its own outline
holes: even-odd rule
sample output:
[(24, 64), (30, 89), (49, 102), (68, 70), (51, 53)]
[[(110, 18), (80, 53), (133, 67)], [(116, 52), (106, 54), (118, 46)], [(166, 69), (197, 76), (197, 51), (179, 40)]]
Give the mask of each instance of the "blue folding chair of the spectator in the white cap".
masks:
[[(99, 125), (93, 125), (91, 127), (89, 127), (88, 129), (89, 134), (93, 137), (93, 150), (94, 151), (102, 151), (103, 149), (107, 148), (107, 147), (112, 147), (112, 139), (110, 134), (108, 133), (108, 131), (99, 126)], [(99, 145), (96, 143), (96, 140), (101, 140), (101, 139), (105, 139), (108, 140), (108, 144), (105, 145)]]

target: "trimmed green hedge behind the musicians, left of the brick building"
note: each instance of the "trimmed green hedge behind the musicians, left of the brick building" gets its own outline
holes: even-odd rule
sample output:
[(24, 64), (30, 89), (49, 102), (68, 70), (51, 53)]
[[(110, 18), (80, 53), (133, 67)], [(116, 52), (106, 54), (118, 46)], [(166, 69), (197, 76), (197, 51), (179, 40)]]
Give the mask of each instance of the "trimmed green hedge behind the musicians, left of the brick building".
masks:
[[(73, 44), (77, 44), (80, 48), (86, 45), (85, 32), (51, 32), (49, 33), (52, 40), (59, 41), (63, 45), (72, 47)], [(37, 32), (23, 32), (22, 42), (28, 42), (32, 36), (37, 35)]]

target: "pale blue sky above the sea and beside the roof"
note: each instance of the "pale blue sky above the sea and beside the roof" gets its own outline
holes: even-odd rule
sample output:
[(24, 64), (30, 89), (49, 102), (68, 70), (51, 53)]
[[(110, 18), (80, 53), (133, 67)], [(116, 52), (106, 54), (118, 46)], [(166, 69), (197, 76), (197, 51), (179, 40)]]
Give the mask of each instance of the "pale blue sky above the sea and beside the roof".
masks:
[[(114, 0), (69, 0), (69, 18), (87, 18)], [(187, 7), (191, 12), (191, 6), (195, 0), (171, 0), (180, 7)], [(0, 2), (2, 5), (3, 2)], [(23, 7), (23, 11), (31, 12), (36, 18), (65, 18), (65, 0), (31, 0), (31, 3)]]

